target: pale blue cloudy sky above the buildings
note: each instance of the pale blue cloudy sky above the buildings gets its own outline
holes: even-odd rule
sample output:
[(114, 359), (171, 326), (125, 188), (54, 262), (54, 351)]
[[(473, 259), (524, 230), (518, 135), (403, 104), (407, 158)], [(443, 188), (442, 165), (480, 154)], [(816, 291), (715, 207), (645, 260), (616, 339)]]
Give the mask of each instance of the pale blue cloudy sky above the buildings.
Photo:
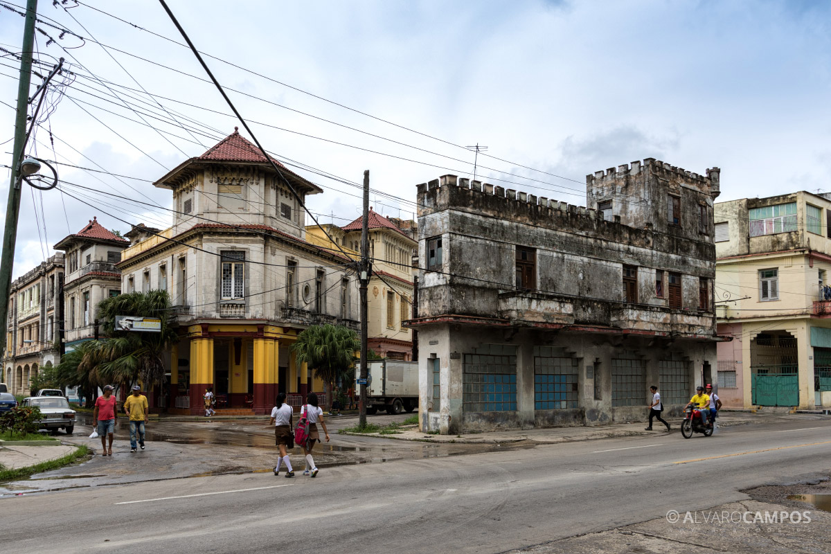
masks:
[[(182, 42), (158, 2), (85, 3), (65, 11), (40, 2), (42, 17), (94, 40), (61, 39), (60, 30), (38, 25), (56, 39), (47, 46), (38, 33), (40, 59), (64, 56), (78, 76), (30, 154), (155, 180), (239, 125), (199, 80), (204, 71), (192, 53), (150, 33)], [(585, 202), (586, 174), (648, 157), (699, 174), (719, 166), (720, 200), (831, 190), (831, 2), (170, 0), (170, 7), (200, 51), (242, 68), (207, 58), (266, 149), (354, 183), (370, 169), (373, 189), (405, 199), (373, 194), (373, 206), (388, 215), (411, 217), (416, 184), (470, 177), (474, 154), (461, 147), (477, 143), (507, 160), (479, 155), (482, 180), (568, 203)], [(0, 46), (20, 51), (22, 27), (22, 17), (0, 9)], [(19, 62), (5, 56), (0, 64), (0, 101), (14, 105)], [(39, 82), (33, 78), (33, 87)], [(2, 164), (11, 160), (13, 115), (0, 105)], [(163, 120), (170, 117), (189, 130)], [(146, 181), (58, 169), (73, 184), (170, 208), (170, 192)], [(334, 213), (322, 223), (359, 215), (359, 189), (293, 169), (325, 190), (309, 201), (315, 213)], [(0, 176), (5, 217), (8, 169)], [(86, 201), (97, 208), (57, 191), (32, 198), (25, 186), (15, 277), (93, 216), (122, 232), (129, 225), (118, 218), (170, 225), (162, 208), (66, 186), (93, 194)], [(45, 229), (36, 224), (41, 211)]]

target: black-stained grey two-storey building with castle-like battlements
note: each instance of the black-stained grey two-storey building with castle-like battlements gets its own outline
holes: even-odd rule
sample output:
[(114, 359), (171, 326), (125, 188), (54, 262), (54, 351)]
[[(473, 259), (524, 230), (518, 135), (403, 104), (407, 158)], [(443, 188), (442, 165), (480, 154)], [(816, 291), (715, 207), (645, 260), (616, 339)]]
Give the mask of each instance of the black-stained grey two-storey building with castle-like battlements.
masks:
[(643, 419), (715, 376), (719, 169), (587, 177), (588, 208), (445, 175), (418, 185), (420, 426)]

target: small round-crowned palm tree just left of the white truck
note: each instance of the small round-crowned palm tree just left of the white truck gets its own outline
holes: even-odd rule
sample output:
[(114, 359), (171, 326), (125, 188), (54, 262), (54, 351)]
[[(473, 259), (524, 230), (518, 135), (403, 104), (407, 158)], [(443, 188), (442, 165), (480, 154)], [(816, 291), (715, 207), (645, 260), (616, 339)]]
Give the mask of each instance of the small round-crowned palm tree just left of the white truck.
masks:
[(332, 405), (329, 391), (355, 365), (355, 353), (359, 350), (361, 341), (357, 333), (348, 327), (334, 325), (309, 327), (297, 336), (297, 342), (292, 345), (297, 364), (306, 362), (314, 369), (315, 377), (326, 386), (327, 409)]

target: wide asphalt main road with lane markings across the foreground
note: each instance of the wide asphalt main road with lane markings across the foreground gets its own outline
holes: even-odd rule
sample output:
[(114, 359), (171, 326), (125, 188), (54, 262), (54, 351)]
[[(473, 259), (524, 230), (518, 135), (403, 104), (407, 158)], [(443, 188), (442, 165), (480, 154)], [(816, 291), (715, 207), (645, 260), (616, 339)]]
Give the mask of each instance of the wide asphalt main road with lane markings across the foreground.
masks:
[[(4, 498), (22, 552), (504, 552), (828, 474), (831, 421)], [(701, 485), (706, 484), (706, 488)]]

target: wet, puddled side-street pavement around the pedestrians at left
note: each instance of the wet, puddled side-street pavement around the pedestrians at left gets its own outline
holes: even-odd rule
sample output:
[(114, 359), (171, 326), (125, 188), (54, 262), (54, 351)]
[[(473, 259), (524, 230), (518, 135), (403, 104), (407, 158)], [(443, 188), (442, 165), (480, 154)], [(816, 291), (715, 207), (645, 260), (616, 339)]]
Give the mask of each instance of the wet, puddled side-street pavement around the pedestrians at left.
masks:
[[(381, 425), (401, 423), (407, 417), (409, 414), (368, 416), (371, 423)], [(321, 471), (360, 463), (533, 448), (533, 444), (524, 443), (426, 444), (337, 434), (337, 429), (356, 423), (356, 416), (327, 418), (331, 441), (317, 444), (313, 451)], [(136, 453), (130, 453), (130, 426), (119, 419), (112, 456), (101, 456), (101, 439), (89, 439), (91, 432), (91, 414), (78, 414), (75, 434), (59, 431), (57, 437), (65, 444), (86, 444), (94, 452), (91, 458), (32, 478), (2, 483), (0, 497), (229, 473), (270, 473), (278, 456), (268, 417), (237, 421), (206, 418), (186, 423), (151, 419), (145, 434), (146, 449)], [(293, 449), (289, 457), (294, 468), (302, 471), (305, 460), (301, 450)]]

